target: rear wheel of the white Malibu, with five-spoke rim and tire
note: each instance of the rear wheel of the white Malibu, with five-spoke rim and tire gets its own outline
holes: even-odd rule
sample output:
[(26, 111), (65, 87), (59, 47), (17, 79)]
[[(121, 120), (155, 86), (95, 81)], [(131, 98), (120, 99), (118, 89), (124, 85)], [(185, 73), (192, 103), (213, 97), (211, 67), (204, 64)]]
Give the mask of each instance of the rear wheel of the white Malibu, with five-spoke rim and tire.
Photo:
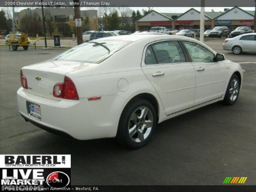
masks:
[(131, 100), (124, 108), (116, 140), (127, 148), (141, 148), (148, 143), (156, 127), (156, 111), (145, 99)]

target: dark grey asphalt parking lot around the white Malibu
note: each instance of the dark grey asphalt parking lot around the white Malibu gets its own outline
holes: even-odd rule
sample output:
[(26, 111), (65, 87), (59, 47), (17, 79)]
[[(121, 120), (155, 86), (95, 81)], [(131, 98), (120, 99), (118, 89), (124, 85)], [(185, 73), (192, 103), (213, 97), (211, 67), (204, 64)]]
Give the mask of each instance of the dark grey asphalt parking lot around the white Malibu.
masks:
[(226, 177), (256, 185), (256, 55), (223, 51), (220, 40), (206, 44), (246, 70), (236, 104), (218, 102), (164, 121), (137, 150), (111, 138), (62, 138), (27, 123), (17, 108), (20, 68), (64, 50), (0, 47), (0, 153), (71, 154), (72, 185), (221, 185)]

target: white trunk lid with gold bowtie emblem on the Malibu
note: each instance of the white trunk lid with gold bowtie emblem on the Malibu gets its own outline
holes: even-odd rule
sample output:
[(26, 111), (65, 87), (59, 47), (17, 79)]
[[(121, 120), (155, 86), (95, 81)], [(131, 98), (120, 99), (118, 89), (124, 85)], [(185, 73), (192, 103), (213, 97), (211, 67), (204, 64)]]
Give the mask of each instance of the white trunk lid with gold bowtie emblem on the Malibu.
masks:
[(48, 60), (25, 66), (22, 68), (22, 73), (27, 78), (28, 92), (45, 98), (60, 100), (52, 94), (56, 83), (63, 83), (65, 75), (69, 72), (92, 68), (97, 65), (75, 61)]

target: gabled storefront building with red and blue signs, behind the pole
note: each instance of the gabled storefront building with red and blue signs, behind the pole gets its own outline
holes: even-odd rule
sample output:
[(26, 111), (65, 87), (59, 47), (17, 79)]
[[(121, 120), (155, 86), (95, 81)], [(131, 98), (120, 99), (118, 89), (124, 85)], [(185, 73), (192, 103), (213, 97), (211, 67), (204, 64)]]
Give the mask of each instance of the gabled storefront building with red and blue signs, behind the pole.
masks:
[[(151, 11), (135, 23), (136, 31), (148, 31), (153, 26), (170, 29), (200, 29), (200, 12), (191, 8), (184, 13), (158, 13)], [(254, 25), (254, 12), (239, 7), (225, 9), (224, 12), (205, 12), (204, 30), (215, 26), (227, 26), (234, 30), (238, 26)]]

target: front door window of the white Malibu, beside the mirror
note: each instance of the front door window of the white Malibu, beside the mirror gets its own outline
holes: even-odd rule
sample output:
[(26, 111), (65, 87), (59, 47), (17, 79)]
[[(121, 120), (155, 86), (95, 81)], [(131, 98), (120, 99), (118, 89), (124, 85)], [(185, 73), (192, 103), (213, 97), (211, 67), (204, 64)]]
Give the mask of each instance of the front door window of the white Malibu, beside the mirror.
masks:
[(192, 62), (215, 62), (214, 54), (202, 45), (189, 41), (183, 41), (183, 43), (190, 54)]

